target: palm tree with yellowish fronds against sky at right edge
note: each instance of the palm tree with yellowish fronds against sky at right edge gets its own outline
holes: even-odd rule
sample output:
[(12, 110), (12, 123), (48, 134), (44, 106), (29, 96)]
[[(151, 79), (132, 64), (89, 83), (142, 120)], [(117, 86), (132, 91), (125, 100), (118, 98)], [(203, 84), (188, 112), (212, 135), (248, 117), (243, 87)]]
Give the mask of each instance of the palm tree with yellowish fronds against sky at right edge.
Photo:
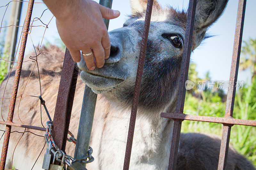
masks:
[(256, 75), (256, 38), (254, 40), (250, 38), (248, 41), (244, 41), (241, 53), (243, 57), (240, 61), (240, 69), (250, 69), (253, 79)]

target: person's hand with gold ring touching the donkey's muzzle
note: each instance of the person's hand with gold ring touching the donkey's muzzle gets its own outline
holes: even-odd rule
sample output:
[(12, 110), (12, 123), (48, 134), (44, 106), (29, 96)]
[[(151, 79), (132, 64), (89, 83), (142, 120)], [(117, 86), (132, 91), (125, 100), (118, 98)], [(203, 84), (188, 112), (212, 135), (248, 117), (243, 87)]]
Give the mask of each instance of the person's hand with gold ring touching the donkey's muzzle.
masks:
[(68, 2), (67, 6), (55, 3), (59, 7), (57, 10), (51, 9), (45, 3), (56, 17), (56, 26), (61, 40), (75, 62), (81, 60), (80, 50), (83, 54), (89, 54), (92, 51), (89, 56), (83, 55), (88, 69), (93, 70), (96, 66), (103, 67), (105, 59), (110, 55), (110, 40), (102, 18), (117, 18), (120, 12), (92, 0)]

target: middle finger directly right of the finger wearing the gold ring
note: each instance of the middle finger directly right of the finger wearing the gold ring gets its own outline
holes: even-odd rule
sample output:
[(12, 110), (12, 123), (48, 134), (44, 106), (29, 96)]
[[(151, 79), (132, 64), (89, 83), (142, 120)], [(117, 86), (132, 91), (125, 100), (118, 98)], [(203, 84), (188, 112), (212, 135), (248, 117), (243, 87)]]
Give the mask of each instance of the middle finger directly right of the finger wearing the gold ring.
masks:
[(104, 53), (104, 48), (102, 47), (101, 43), (98, 43), (94, 47), (92, 47), (92, 50), (94, 53), (96, 66), (98, 68), (103, 67), (103, 65), (105, 63), (105, 53)]

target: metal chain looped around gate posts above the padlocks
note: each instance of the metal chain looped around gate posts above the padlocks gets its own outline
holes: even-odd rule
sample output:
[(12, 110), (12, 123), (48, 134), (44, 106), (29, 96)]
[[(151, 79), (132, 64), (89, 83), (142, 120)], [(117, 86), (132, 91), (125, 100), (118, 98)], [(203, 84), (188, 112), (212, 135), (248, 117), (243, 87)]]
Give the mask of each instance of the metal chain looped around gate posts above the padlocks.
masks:
[[(89, 146), (89, 150), (88, 150), (87, 155), (85, 157), (83, 157), (83, 158), (74, 159), (71, 156), (65, 154), (63, 151), (61, 151), (60, 148), (55, 144), (55, 142), (54, 142), (54, 140), (52, 138), (52, 122), (53, 121), (46, 122), (46, 133), (44, 134), (44, 138), (45, 138), (45, 142), (46, 142), (46, 144), (48, 146), (49, 146), (49, 142), (51, 141), (52, 148), (50, 148), (50, 149), (51, 149), (51, 152), (54, 154), (55, 160), (60, 162), (61, 165), (63, 165), (63, 163), (65, 163), (65, 164), (67, 164), (67, 166), (71, 165), (71, 161), (72, 161), (72, 163), (74, 163), (76, 161), (82, 161), (83, 163), (86, 163), (86, 164), (94, 161), (94, 158), (92, 157), (93, 150), (92, 150), (92, 148), (90, 146)], [(75, 139), (74, 135), (70, 131), (68, 131), (68, 134), (71, 137), (69, 139), (67, 139), (67, 140), (69, 142), (73, 142), (74, 144), (76, 144), (76, 139)], [(60, 159), (60, 158), (62, 158), (62, 159)]]

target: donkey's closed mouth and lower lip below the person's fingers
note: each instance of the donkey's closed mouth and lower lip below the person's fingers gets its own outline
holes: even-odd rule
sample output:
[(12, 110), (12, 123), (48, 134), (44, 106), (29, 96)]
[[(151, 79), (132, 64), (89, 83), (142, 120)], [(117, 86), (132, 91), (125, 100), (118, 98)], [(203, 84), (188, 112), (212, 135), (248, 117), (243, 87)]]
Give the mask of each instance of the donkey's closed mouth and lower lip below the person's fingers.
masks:
[(108, 92), (125, 80), (124, 77), (98, 74), (87, 70), (82, 71), (80, 76), (84, 83), (96, 94)]

